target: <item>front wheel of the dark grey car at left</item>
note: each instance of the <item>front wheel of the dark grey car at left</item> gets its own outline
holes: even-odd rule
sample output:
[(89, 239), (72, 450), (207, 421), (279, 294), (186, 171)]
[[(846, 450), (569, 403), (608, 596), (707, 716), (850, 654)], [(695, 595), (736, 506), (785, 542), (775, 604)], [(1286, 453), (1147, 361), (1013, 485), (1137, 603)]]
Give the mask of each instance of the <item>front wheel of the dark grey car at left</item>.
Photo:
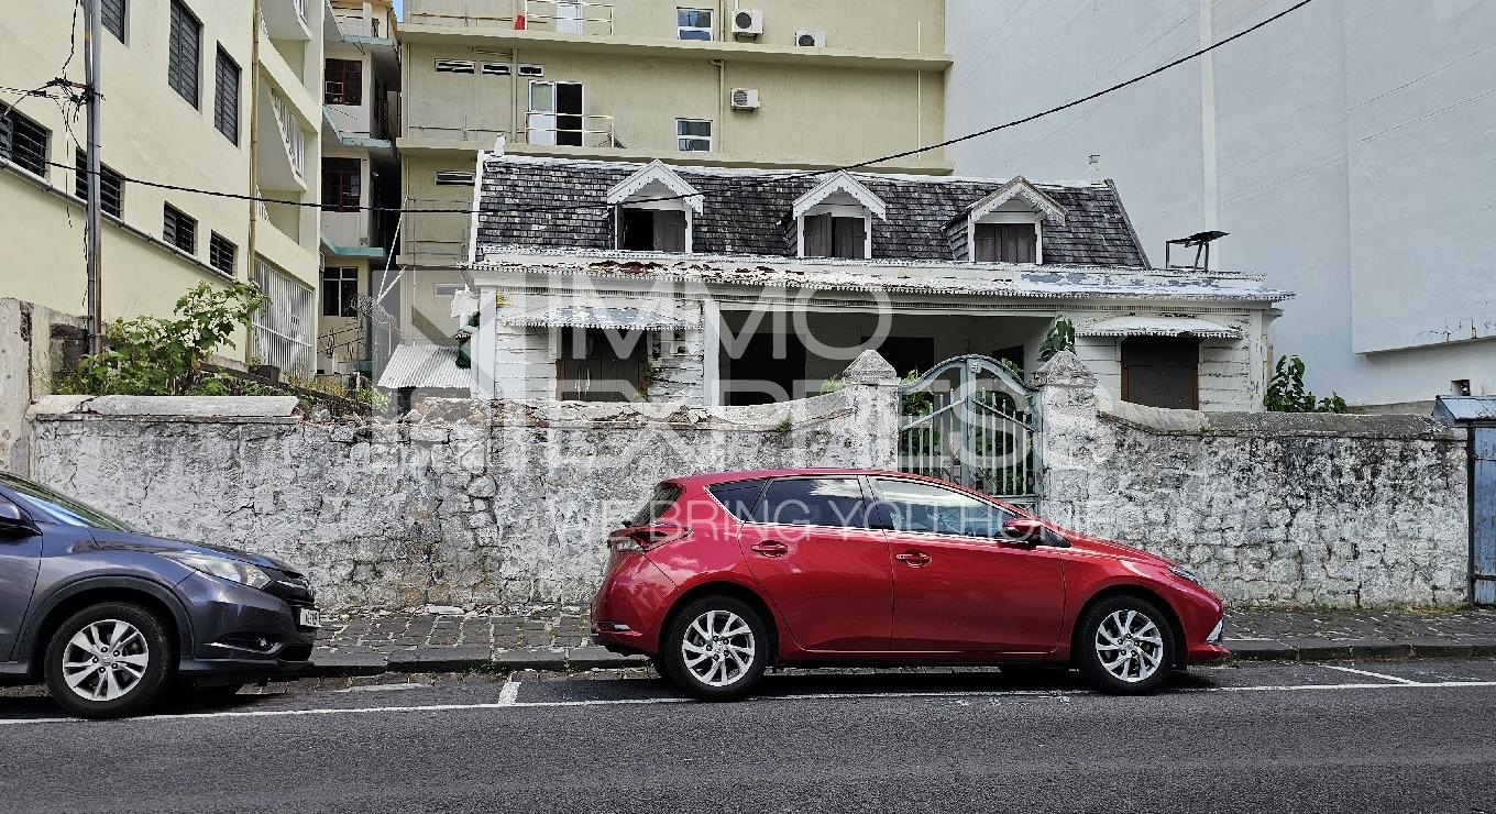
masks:
[(52, 700), (85, 718), (118, 718), (162, 699), (175, 672), (172, 637), (129, 602), (85, 608), (58, 625), (46, 648)]

